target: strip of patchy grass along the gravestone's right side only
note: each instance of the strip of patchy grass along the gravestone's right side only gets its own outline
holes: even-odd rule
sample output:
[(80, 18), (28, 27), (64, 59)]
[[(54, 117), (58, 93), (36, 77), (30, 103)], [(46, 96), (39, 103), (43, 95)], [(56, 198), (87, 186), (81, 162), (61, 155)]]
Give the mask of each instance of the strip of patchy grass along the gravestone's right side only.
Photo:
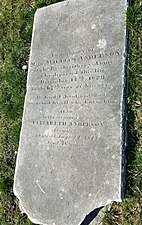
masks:
[(126, 198), (106, 212), (103, 225), (142, 224), (142, 1), (127, 12), (130, 39), (128, 70), (128, 146)]

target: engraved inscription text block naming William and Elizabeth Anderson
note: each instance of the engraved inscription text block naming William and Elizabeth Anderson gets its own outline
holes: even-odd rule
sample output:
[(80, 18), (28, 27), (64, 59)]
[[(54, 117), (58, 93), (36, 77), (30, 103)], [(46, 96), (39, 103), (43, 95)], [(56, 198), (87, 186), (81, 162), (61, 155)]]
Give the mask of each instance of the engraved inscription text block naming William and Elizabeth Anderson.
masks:
[[(94, 105), (101, 110), (104, 104), (115, 107), (118, 100), (115, 95), (110, 98), (113, 83), (108, 77), (110, 67), (114, 66), (119, 56), (119, 51), (95, 53), (92, 47), (87, 51), (52, 53), (43, 62), (31, 62), (36, 83), (33, 81), (29, 86), (32, 97), (27, 104), (33, 109), (38, 106), (39, 113), (45, 114), (47, 111), (47, 116), (30, 120), (32, 126), (43, 127), (36, 137), (54, 146), (83, 147), (91, 141), (96, 142), (97, 133), (106, 124), (97, 117), (90, 118), (87, 113), (83, 114), (82, 109), (92, 110)], [(55, 90), (58, 94), (55, 94)], [(56, 116), (49, 113), (48, 109), (54, 109)], [(52, 129), (51, 134), (47, 127)], [(82, 133), (88, 129), (88, 135), (81, 132), (78, 135), (79, 129)]]

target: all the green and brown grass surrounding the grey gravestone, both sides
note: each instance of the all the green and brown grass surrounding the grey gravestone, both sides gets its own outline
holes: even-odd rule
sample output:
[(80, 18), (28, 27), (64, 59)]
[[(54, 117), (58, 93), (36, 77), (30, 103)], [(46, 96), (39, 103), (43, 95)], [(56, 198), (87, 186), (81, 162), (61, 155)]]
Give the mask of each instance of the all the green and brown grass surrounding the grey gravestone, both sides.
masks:
[[(0, 1), (0, 221), (31, 225), (13, 195), (13, 176), (26, 90), (33, 17), (37, 8), (59, 1)], [(126, 198), (113, 203), (103, 225), (142, 224), (142, 1), (127, 13), (130, 36), (128, 64), (128, 147)]]

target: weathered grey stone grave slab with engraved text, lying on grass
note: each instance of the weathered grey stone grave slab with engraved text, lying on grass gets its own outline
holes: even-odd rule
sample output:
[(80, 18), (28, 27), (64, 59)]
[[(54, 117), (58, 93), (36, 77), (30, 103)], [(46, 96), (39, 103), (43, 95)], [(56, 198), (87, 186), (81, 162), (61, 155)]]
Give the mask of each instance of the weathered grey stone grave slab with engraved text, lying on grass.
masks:
[(72, 0), (35, 14), (14, 179), (34, 223), (86, 225), (123, 198), (126, 7)]

